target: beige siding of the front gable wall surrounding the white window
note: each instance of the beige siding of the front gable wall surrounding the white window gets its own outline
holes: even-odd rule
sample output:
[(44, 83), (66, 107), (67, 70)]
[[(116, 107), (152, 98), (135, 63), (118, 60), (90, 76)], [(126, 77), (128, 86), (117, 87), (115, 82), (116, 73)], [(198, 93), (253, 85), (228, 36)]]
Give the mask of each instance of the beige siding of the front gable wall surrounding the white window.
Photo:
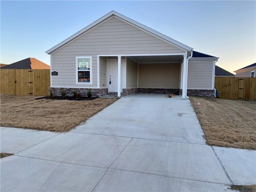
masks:
[[(112, 17), (52, 53), (52, 70), (58, 72), (58, 76), (52, 76), (52, 86), (97, 87), (98, 54), (163, 53), (184, 53), (184, 50)], [(92, 56), (92, 85), (76, 85), (76, 56)], [(101, 87), (103, 68), (100, 68)]]

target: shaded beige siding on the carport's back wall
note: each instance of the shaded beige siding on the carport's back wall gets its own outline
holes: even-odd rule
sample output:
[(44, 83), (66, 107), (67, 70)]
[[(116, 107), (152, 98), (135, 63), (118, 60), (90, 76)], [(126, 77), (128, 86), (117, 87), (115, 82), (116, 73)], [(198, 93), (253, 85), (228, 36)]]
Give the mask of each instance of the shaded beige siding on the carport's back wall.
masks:
[(180, 64), (139, 64), (141, 88), (179, 88)]

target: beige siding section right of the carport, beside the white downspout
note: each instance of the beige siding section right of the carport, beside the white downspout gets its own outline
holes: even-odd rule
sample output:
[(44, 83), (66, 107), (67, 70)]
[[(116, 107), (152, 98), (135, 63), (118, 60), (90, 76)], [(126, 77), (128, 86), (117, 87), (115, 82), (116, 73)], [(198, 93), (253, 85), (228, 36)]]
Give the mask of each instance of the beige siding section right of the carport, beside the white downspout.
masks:
[(213, 61), (188, 61), (188, 89), (212, 89)]

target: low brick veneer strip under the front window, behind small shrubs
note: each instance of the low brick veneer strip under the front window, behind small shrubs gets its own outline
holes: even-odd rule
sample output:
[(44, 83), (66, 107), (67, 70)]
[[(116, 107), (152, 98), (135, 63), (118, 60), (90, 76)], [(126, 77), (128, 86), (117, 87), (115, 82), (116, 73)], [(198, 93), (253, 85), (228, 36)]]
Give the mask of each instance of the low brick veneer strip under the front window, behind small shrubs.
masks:
[(59, 88), (59, 87), (50, 87), (49, 93), (52, 91), (54, 96), (61, 96), (61, 92), (64, 90), (66, 92), (66, 96), (73, 96), (73, 91), (80, 93), (82, 96), (87, 96), (87, 91), (92, 91), (92, 96), (102, 96), (103, 94), (108, 93), (108, 88)]

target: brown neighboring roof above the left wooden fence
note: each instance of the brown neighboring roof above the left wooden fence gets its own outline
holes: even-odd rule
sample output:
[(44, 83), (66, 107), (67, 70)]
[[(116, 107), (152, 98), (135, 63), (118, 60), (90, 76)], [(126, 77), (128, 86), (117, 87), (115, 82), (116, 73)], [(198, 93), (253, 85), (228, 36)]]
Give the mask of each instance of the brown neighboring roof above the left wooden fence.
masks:
[(1, 67), (1, 69), (50, 69), (50, 66), (37, 60), (36, 58), (26, 58), (24, 60)]

